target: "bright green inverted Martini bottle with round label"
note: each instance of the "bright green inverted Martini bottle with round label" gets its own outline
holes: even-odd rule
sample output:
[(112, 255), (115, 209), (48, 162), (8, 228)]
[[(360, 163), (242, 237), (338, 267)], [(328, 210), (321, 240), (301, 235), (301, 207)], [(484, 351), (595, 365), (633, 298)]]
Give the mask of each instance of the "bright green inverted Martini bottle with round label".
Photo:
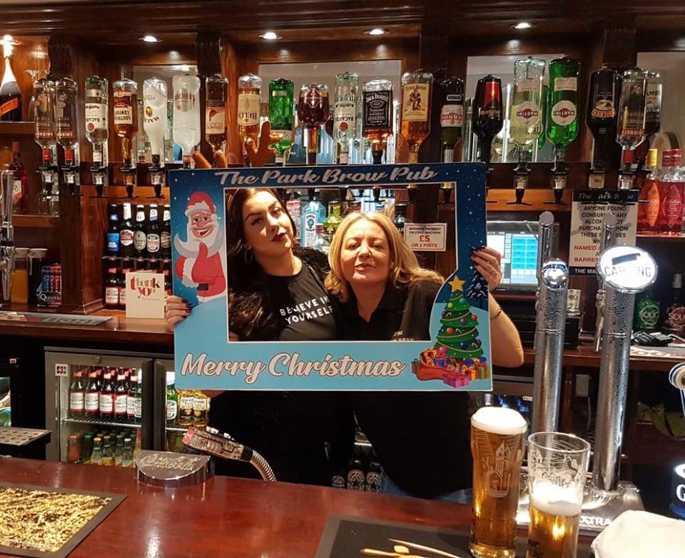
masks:
[(549, 62), (547, 138), (554, 145), (552, 188), (562, 202), (566, 188), (566, 150), (578, 136), (578, 77), (580, 61), (565, 56)]

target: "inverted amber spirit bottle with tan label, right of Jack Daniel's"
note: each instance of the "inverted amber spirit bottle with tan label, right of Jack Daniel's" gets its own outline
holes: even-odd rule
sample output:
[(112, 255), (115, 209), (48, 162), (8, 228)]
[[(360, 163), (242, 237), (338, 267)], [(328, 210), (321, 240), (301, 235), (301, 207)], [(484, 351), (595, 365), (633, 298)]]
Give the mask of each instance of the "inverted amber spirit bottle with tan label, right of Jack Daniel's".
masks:
[(419, 149), (430, 133), (430, 96), (433, 74), (417, 70), (402, 75), (400, 133), (409, 146), (409, 162), (419, 161)]

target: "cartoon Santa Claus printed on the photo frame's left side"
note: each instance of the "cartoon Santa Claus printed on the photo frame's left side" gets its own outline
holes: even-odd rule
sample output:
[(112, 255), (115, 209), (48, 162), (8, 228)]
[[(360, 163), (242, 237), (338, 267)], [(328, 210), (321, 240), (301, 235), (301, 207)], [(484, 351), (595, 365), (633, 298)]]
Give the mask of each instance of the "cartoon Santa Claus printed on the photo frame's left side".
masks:
[(176, 275), (186, 287), (197, 288), (198, 301), (220, 298), (226, 291), (223, 260), (223, 230), (219, 226), (212, 198), (195, 192), (186, 205), (187, 240), (178, 235), (173, 242), (181, 257), (176, 260)]

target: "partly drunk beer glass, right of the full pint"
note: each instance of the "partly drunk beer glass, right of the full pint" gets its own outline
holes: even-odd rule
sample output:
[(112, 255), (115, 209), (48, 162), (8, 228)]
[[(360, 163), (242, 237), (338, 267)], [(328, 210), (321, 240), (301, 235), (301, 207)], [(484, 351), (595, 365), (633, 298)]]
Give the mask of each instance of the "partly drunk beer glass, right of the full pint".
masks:
[(530, 526), (526, 558), (575, 558), (590, 445), (561, 432), (528, 438)]

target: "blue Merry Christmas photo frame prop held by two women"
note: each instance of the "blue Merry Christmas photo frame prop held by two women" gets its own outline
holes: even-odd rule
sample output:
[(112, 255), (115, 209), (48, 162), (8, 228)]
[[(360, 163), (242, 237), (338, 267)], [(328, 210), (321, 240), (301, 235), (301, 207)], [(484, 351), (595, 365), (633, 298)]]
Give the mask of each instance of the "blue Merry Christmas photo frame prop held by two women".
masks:
[[(193, 306), (174, 333), (177, 387), (492, 390), (487, 283), (471, 260), (472, 251), (486, 243), (482, 163), (224, 168), (169, 175), (173, 293)], [(407, 183), (455, 184), (455, 271), (426, 310), (430, 340), (229, 340), (227, 194), (238, 188), (404, 189)]]

